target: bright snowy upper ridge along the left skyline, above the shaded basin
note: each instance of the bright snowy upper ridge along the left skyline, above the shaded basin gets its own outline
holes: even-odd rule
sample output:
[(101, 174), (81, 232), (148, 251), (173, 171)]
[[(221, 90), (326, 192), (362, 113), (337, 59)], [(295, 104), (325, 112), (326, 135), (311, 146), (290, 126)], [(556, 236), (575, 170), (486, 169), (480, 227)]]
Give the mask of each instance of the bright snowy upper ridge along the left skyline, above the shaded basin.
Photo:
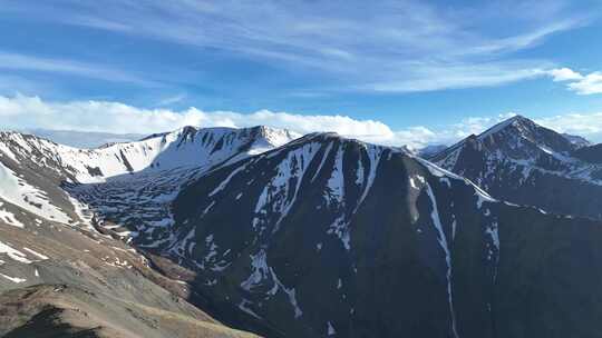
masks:
[(140, 141), (77, 149), (18, 132), (0, 133), (0, 153), (14, 161), (35, 161), (78, 182), (103, 181), (143, 170), (211, 167), (279, 147), (297, 138), (268, 127), (184, 127)]

